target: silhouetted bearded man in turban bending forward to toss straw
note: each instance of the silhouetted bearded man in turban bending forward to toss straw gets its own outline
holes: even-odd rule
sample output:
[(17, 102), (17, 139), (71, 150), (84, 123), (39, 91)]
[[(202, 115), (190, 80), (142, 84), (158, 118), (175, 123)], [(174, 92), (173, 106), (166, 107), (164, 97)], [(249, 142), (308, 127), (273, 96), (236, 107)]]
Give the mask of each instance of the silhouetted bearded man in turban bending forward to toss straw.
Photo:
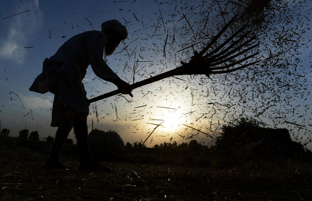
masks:
[(118, 89), (128, 90), (126, 94), (132, 97), (130, 85), (121, 80), (103, 59), (104, 51), (105, 55), (111, 55), (127, 36), (125, 26), (117, 20), (109, 20), (102, 23), (102, 31), (80, 33), (66, 41), (56, 54), (44, 60), (43, 71), (29, 90), (41, 94), (50, 91), (55, 95), (51, 126), (58, 129), (45, 168), (66, 168), (58, 157), (69, 132), (74, 128), (80, 149), (79, 169), (109, 170), (96, 163), (89, 152), (87, 116), (90, 103), (82, 80), (91, 65), (96, 76), (114, 83)]

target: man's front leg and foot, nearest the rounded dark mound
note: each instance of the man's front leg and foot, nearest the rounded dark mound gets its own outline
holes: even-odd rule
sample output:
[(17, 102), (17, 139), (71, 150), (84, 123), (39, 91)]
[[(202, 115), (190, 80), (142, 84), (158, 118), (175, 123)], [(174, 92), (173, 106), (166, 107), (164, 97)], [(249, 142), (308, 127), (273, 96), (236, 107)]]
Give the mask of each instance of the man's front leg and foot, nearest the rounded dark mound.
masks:
[(77, 144), (80, 150), (80, 165), (81, 170), (91, 170), (91, 171), (111, 171), (105, 168), (101, 164), (95, 162), (92, 159), (89, 146), (88, 146), (88, 126), (87, 126), (87, 116), (88, 113), (75, 113), (74, 114), (74, 131), (76, 135)]

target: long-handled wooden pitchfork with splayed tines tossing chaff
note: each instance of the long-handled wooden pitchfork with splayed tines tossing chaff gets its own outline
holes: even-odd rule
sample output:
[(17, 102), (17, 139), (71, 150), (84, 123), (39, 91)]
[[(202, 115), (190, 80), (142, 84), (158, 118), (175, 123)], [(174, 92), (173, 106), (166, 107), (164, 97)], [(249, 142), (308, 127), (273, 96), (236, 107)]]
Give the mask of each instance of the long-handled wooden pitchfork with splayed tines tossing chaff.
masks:
[[(234, 59), (238, 56), (241, 56), (242, 54), (246, 53), (247, 51), (250, 51), (251, 49), (257, 47), (259, 45), (255, 44), (251, 47), (248, 47), (246, 49), (243, 49), (243, 47), (247, 46), (251, 41), (255, 39), (255, 37), (252, 37), (251, 39), (247, 40), (246, 42), (242, 42), (237, 47), (235, 47), (238, 43), (240, 43), (246, 36), (250, 33), (246, 32), (241, 37), (239, 37), (236, 41), (232, 41), (234, 37), (236, 37), (240, 32), (242, 32), (246, 27), (247, 24), (241, 27), (239, 30), (237, 30), (235, 33), (232, 34), (226, 41), (224, 41), (221, 45), (217, 46), (214, 50), (210, 51), (206, 55), (206, 51), (210, 49), (213, 44), (217, 42), (217, 40), (221, 37), (222, 33), (227, 29), (227, 27), (230, 26), (230, 24), (234, 21), (234, 19), (237, 17), (235, 15), (223, 28), (222, 30), (212, 38), (212, 41), (209, 42), (209, 44), (202, 49), (199, 53), (197, 51), (194, 52), (194, 56), (191, 57), (191, 60), (188, 63), (181, 62), (182, 66), (179, 66), (171, 71), (167, 71), (164, 73), (161, 73), (159, 75), (150, 77), (148, 79), (136, 82), (131, 85), (132, 89), (151, 84), (153, 82), (162, 80), (167, 77), (171, 76), (177, 76), (177, 75), (206, 75), (209, 77), (211, 74), (223, 74), (223, 73), (229, 73), (233, 72), (242, 68), (245, 68), (247, 66), (251, 66), (259, 61), (247, 63), (238, 67), (235, 67), (236, 65), (240, 64), (243, 61), (246, 61), (254, 56), (256, 56), (259, 52), (256, 52), (254, 54), (251, 54), (250, 56), (247, 56), (245, 58), (242, 58), (238, 61), (234, 61)], [(232, 41), (232, 42), (231, 42)], [(229, 42), (231, 44), (222, 50), (222, 48), (227, 45)], [(230, 63), (226, 63), (230, 62)], [(222, 65), (223, 64), (223, 65)], [(221, 65), (221, 66), (220, 66)], [(89, 99), (89, 103), (102, 100), (104, 98), (117, 95), (119, 93), (125, 93), (127, 91), (124, 90), (115, 90), (108, 92), (106, 94), (96, 96), (94, 98)]]

